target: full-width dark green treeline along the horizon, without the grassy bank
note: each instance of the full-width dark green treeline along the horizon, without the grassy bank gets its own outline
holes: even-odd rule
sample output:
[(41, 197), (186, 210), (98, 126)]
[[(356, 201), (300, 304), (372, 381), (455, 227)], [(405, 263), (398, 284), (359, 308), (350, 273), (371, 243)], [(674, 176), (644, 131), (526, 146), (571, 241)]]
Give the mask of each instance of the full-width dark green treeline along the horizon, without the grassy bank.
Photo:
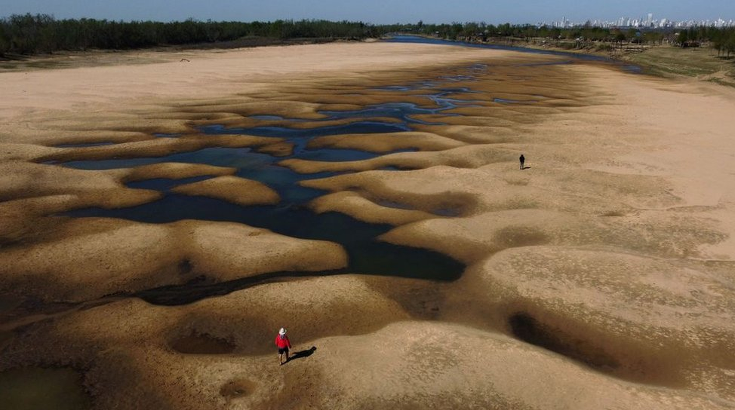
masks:
[(402, 32), (471, 41), (531, 41), (550, 39), (557, 46), (587, 48), (597, 43), (598, 49), (612, 43), (662, 44), (698, 46), (708, 43), (720, 54), (735, 53), (735, 28), (692, 27), (689, 29), (607, 29), (586, 24), (559, 29), (548, 26), (493, 25), (487, 23), (451, 23), (373, 25), (351, 21), (107, 21), (82, 18), (56, 20), (50, 15), (11, 15), (0, 19), (0, 56), (6, 54), (40, 54), (54, 51), (77, 51), (88, 48), (123, 50), (157, 45), (193, 45), (239, 40), (243, 37), (347, 38), (367, 37)]

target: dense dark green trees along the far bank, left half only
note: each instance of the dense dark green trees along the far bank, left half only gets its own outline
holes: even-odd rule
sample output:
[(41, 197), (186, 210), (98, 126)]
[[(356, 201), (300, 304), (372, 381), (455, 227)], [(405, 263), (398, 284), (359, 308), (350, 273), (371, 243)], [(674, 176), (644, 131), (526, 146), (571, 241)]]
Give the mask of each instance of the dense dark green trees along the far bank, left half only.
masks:
[(378, 26), (350, 21), (107, 21), (56, 20), (50, 15), (11, 15), (0, 19), (0, 56), (78, 51), (123, 50), (157, 45), (187, 45), (242, 37), (362, 39), (384, 34)]

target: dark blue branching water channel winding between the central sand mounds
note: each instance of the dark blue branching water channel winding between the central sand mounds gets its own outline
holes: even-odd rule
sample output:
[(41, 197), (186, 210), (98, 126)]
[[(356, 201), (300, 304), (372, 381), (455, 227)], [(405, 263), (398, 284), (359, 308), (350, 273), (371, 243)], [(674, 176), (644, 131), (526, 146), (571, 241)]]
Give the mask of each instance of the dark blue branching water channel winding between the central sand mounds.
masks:
[[(472, 95), (465, 88), (442, 88), (442, 83), (451, 80), (432, 82), (431, 84), (412, 84), (407, 89), (426, 89), (426, 105), (415, 103), (384, 103), (365, 106), (352, 111), (320, 111), (326, 117), (322, 120), (309, 120), (309, 128), (291, 128), (290, 122), (304, 122), (300, 119), (287, 119), (272, 115), (258, 115), (251, 119), (264, 122), (279, 120), (282, 126), (255, 126), (252, 128), (225, 128), (221, 125), (209, 125), (199, 128), (205, 134), (243, 134), (251, 136), (267, 136), (285, 139), (293, 144), (293, 152), (287, 156), (273, 156), (258, 153), (252, 148), (209, 147), (188, 153), (175, 153), (155, 158), (110, 158), (92, 161), (68, 161), (60, 164), (76, 169), (115, 169), (129, 168), (145, 164), (162, 162), (184, 162), (192, 164), (209, 164), (228, 166), (237, 169), (235, 175), (257, 180), (278, 192), (281, 201), (277, 205), (241, 206), (232, 202), (209, 197), (187, 196), (171, 192), (171, 188), (184, 183), (205, 180), (209, 176), (171, 180), (155, 178), (127, 183), (129, 188), (145, 188), (161, 191), (162, 199), (129, 208), (104, 209), (84, 208), (64, 213), (74, 217), (110, 217), (130, 219), (138, 222), (166, 223), (182, 219), (198, 219), (204, 221), (240, 222), (254, 227), (263, 227), (275, 233), (295, 238), (318, 239), (332, 241), (344, 247), (349, 256), (349, 265), (340, 271), (306, 273), (277, 272), (230, 282), (226, 285), (173, 286), (158, 290), (146, 291), (137, 296), (148, 301), (161, 304), (187, 303), (210, 294), (227, 293), (243, 288), (256, 280), (273, 279), (273, 277), (301, 276), (313, 274), (377, 274), (422, 279), (452, 280), (459, 277), (464, 270), (462, 263), (437, 252), (417, 249), (409, 246), (398, 246), (377, 241), (376, 238), (392, 229), (389, 224), (370, 224), (361, 222), (343, 213), (315, 213), (306, 205), (312, 199), (327, 194), (326, 191), (305, 188), (298, 183), (301, 180), (329, 177), (336, 172), (319, 172), (301, 174), (285, 166), (280, 161), (287, 158), (300, 158), (311, 161), (359, 161), (373, 158), (377, 153), (362, 150), (343, 150), (333, 148), (310, 149), (307, 144), (318, 136), (349, 133), (400, 133), (411, 131), (413, 124), (429, 124), (412, 117), (415, 114), (438, 114), (456, 106), (471, 106), (477, 100), (461, 100), (448, 98), (448, 95)], [(437, 85), (438, 84), (438, 85)], [(451, 84), (447, 84), (451, 85)], [(373, 90), (375, 91), (375, 90)], [(464, 93), (464, 94), (461, 94)], [(414, 93), (415, 95), (415, 93)], [(445, 114), (451, 115), (451, 114)], [(318, 122), (334, 124), (334, 120), (354, 120), (345, 125), (318, 126)], [(157, 134), (160, 138), (177, 138), (176, 134)], [(393, 151), (395, 152), (395, 151)], [(388, 202), (384, 202), (388, 203)], [(392, 202), (392, 208), (410, 208), (408, 205)], [(437, 209), (437, 216), (449, 216), (452, 210)], [(177, 296), (178, 295), (178, 296)]]

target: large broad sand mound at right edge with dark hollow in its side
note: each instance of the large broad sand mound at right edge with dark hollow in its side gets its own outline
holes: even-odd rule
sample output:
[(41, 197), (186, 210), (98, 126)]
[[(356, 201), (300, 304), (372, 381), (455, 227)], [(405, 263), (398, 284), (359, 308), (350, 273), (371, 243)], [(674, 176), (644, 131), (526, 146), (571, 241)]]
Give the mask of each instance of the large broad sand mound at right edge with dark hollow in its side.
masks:
[(464, 298), (484, 300), (460, 321), (484, 322), (627, 380), (734, 397), (727, 375), (735, 368), (735, 299), (711, 271), (529, 246), (499, 252), (455, 286)]

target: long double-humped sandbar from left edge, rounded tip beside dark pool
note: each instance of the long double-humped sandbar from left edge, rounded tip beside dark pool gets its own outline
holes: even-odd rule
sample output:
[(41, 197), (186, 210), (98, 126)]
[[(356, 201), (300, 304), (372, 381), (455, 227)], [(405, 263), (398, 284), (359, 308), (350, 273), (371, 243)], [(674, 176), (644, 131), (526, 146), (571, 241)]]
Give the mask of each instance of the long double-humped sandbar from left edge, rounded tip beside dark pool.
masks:
[(0, 250), (1, 288), (42, 299), (85, 301), (115, 292), (229, 281), (277, 271), (343, 268), (341, 246), (229, 222), (140, 224), (73, 219), (53, 235)]

